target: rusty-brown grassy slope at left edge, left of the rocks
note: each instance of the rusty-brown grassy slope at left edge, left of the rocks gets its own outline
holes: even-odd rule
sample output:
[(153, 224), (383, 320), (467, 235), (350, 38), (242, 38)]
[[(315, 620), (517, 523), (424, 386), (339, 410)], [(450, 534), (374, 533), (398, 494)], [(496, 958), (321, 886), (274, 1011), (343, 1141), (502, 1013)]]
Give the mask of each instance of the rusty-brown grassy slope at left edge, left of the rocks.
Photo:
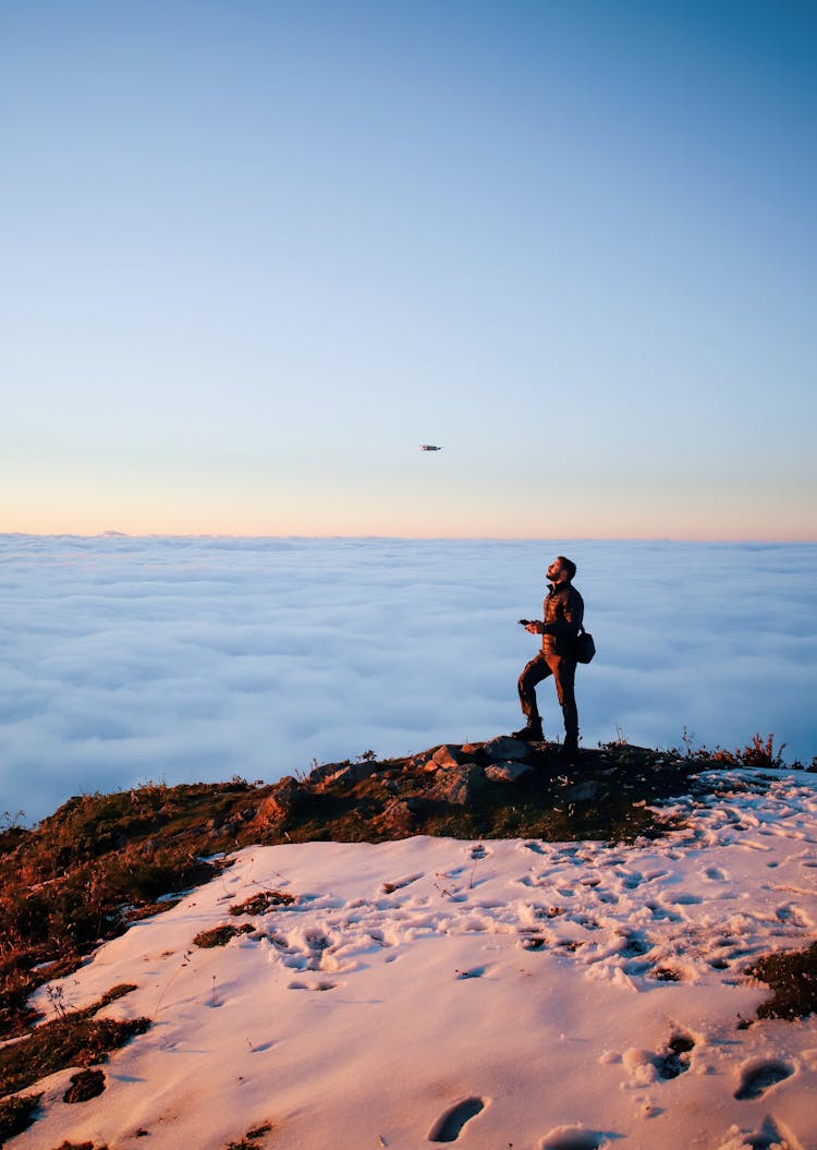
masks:
[[(46, 979), (70, 973), (100, 940), (167, 910), (219, 873), (202, 854), (232, 850), (257, 795), (242, 780), (69, 799), (33, 829), (0, 833), (0, 1037), (37, 1020)], [(48, 965), (51, 964), (51, 965)]]

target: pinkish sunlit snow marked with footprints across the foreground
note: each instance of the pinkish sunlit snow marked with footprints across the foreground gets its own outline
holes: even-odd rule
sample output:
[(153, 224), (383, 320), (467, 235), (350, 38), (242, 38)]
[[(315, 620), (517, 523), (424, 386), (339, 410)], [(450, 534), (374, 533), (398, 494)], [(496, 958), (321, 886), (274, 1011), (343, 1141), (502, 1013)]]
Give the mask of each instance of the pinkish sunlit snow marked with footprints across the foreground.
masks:
[[(810, 1150), (815, 1018), (738, 1023), (770, 997), (745, 967), (815, 937), (817, 777), (718, 777), (678, 800), (685, 829), (629, 845), (239, 851), (56, 983), (78, 1007), (133, 982), (103, 1013), (153, 1026), (100, 1097), (40, 1083), (9, 1145), (222, 1150), (269, 1125), (252, 1145)], [(294, 902), (230, 914), (270, 890)], [(226, 923), (253, 929), (194, 944)]]

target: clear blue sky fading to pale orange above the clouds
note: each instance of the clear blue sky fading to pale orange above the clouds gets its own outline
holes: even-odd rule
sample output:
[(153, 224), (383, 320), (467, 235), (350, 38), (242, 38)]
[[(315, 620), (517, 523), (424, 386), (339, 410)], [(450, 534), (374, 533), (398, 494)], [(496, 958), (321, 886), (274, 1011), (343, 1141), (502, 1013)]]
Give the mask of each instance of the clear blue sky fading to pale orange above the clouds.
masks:
[(1, 531), (817, 538), (814, 5), (0, 0), (0, 99)]

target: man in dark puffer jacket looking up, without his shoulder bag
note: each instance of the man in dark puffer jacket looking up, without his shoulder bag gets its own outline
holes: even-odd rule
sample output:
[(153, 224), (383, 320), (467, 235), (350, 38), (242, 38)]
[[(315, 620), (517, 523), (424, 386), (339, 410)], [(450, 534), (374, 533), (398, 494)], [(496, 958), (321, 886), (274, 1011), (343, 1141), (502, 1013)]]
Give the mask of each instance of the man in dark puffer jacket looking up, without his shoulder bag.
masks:
[(527, 720), (522, 730), (514, 731), (515, 738), (539, 741), (542, 737), (542, 721), (537, 706), (537, 683), (553, 675), (556, 696), (564, 718), (563, 758), (572, 758), (579, 749), (579, 716), (576, 710), (573, 682), (576, 678), (575, 644), (581, 627), (585, 605), (573, 586), (576, 564), (558, 555), (548, 567), (550, 589), (545, 599), (544, 622), (521, 620), (531, 635), (542, 636), (542, 649), (531, 659), (519, 675), (519, 703)]

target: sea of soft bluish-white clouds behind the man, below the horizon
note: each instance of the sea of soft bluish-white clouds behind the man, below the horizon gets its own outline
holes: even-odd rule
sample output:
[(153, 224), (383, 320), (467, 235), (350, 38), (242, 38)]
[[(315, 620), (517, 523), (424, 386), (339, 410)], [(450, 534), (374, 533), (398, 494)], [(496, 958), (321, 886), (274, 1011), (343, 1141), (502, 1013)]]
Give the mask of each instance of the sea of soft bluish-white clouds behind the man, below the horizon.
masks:
[[(817, 545), (0, 535), (0, 812), (486, 739), (557, 554), (585, 745), (817, 754)], [(546, 735), (561, 737), (552, 683)]]

